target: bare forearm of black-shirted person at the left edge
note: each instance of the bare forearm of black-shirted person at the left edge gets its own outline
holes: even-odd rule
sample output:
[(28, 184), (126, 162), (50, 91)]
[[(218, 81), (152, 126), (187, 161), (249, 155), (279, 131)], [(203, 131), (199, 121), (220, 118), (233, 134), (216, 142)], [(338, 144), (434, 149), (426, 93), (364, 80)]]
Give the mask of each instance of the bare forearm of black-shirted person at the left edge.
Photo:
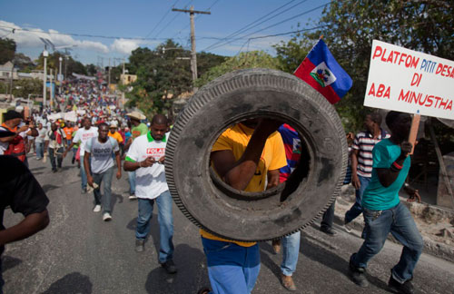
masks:
[(49, 224), (49, 213), (47, 210), (31, 213), (24, 220), (6, 230), (0, 230), (0, 245), (24, 240), (36, 232), (43, 230)]

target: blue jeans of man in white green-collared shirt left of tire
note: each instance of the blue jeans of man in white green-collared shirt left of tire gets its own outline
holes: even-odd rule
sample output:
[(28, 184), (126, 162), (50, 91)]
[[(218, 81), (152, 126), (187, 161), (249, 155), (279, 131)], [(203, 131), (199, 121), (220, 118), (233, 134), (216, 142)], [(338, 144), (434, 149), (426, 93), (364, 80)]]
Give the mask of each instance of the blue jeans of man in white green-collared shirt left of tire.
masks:
[(153, 217), (154, 201), (158, 204), (158, 222), (160, 234), (159, 263), (173, 259), (173, 215), (172, 197), (170, 192), (164, 191), (158, 198), (139, 198), (139, 216), (137, 217), (137, 229), (135, 238), (144, 240), (150, 232), (150, 220)]

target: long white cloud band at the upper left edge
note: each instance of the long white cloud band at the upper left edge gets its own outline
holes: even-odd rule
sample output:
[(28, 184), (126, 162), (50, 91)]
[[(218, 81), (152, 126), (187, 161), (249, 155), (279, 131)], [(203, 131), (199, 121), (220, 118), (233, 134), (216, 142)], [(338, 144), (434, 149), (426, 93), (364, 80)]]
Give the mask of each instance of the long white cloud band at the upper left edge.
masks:
[[(12, 33), (12, 30), (15, 29), (15, 33)], [(94, 50), (96, 52), (107, 54), (109, 53), (109, 48), (102, 44), (101, 42), (93, 41), (80, 41), (74, 40), (71, 35), (68, 34), (55, 34), (58, 31), (50, 29), (48, 32), (44, 32), (42, 29), (28, 29), (23, 31), (22, 28), (13, 23), (8, 23), (0, 20), (0, 36), (5, 36), (15, 40), (15, 43), (18, 47), (22, 48), (36, 48), (43, 47), (43, 42), (39, 39), (45, 38), (49, 39), (55, 47), (58, 46), (76, 46), (77, 48), (84, 50)]]

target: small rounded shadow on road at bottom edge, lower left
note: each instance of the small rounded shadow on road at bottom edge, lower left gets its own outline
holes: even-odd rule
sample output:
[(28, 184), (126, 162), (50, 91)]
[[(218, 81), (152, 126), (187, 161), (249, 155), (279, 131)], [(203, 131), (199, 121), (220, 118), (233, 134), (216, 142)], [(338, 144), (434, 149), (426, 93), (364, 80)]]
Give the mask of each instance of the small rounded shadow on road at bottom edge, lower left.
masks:
[(55, 281), (43, 294), (91, 294), (92, 289), (93, 284), (88, 276), (73, 272)]

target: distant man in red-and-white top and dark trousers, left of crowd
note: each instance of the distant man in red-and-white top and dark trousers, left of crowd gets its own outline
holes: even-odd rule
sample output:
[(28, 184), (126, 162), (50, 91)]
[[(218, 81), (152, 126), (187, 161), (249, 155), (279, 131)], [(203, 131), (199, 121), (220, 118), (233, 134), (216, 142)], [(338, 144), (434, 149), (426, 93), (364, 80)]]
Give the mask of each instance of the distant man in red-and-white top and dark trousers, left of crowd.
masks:
[(52, 172), (57, 171), (57, 166), (61, 169), (64, 152), (64, 132), (58, 127), (57, 122), (53, 122), (51, 129), (45, 132), (44, 150), (49, 154)]

